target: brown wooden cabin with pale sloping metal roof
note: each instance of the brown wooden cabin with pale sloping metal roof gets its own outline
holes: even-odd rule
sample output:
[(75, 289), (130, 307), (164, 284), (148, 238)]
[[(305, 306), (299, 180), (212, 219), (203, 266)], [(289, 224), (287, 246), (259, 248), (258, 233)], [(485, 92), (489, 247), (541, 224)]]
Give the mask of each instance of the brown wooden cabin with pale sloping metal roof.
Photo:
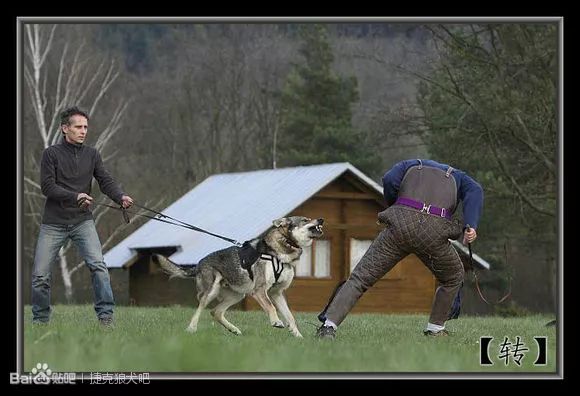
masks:
[[(348, 278), (381, 231), (382, 187), (348, 163), (312, 165), (212, 176), (161, 212), (205, 230), (249, 240), (272, 221), (300, 215), (324, 218), (324, 236), (305, 249), (287, 290), (294, 311), (320, 311), (335, 286)], [(151, 253), (195, 265), (231, 246), (195, 231), (150, 220), (105, 255), (114, 270), (129, 271), (128, 300), (136, 305), (194, 305), (190, 280), (168, 280)], [(401, 260), (369, 289), (353, 312), (429, 312), (436, 281), (415, 256)], [(247, 297), (241, 309), (260, 309)]]

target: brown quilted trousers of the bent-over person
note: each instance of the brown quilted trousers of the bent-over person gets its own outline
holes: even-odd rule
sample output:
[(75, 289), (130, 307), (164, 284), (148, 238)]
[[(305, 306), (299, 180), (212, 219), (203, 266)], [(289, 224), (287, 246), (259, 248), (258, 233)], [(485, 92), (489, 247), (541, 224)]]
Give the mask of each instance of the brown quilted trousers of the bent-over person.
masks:
[(433, 273), (439, 287), (429, 322), (442, 326), (463, 281), (464, 270), (448, 238), (461, 236), (461, 226), (405, 206), (379, 213), (381, 231), (332, 300), (326, 317), (339, 325), (358, 299), (405, 256), (415, 253)]

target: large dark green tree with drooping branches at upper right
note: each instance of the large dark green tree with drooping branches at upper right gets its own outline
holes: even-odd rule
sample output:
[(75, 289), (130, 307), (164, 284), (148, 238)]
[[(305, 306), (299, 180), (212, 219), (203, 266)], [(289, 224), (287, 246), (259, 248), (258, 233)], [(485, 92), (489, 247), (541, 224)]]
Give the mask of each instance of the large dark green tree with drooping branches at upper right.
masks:
[(439, 25), (431, 32), (441, 60), (438, 79), (424, 79), (461, 106), (452, 128), (479, 135), (503, 176), (499, 194), (556, 217), (556, 26)]

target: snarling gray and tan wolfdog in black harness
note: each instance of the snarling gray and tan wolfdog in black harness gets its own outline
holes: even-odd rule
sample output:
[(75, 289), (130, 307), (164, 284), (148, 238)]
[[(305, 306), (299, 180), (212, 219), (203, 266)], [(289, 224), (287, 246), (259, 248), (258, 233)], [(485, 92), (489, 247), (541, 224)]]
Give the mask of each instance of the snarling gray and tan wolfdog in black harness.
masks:
[[(194, 278), (199, 305), (191, 318), (187, 331), (197, 331), (202, 310), (217, 298), (218, 304), (211, 315), (234, 334), (242, 332), (228, 322), (226, 310), (250, 294), (268, 314), (270, 324), (288, 330), (295, 337), (302, 337), (294, 316), (288, 307), (284, 290), (294, 279), (295, 266), (302, 249), (312, 245), (314, 238), (323, 234), (324, 219), (302, 216), (283, 217), (263, 237), (210, 253), (193, 268), (177, 266), (166, 257), (153, 256), (161, 269), (171, 277)], [(274, 304), (272, 304), (274, 303)], [(284, 319), (283, 323), (278, 312)]]

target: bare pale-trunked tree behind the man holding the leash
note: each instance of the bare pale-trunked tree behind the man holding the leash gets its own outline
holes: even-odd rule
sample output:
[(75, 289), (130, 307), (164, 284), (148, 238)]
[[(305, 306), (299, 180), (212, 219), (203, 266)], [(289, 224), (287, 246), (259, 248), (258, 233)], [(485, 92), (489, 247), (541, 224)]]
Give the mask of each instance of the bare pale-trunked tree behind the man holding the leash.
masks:
[[(58, 25), (27, 24), (24, 26), (24, 78), (26, 81), (26, 99), (31, 104), (32, 118), (36, 132), (42, 140), (42, 148), (58, 142), (61, 131), (59, 115), (68, 106), (75, 104), (88, 109), (93, 114), (102, 105), (105, 94), (119, 77), (118, 68), (113, 59), (106, 56), (90, 56), (86, 43), (72, 46), (67, 37), (57, 38)], [(96, 58), (96, 59), (94, 59)], [(107, 124), (95, 135), (98, 139), (95, 148), (105, 153), (110, 146), (111, 138), (119, 131), (129, 101), (120, 99), (115, 106)], [(44, 197), (40, 186), (34, 182), (39, 175), (39, 164), (34, 158), (39, 152), (29, 153), (25, 159), (25, 219), (34, 222), (36, 229), (40, 223), (40, 206)], [(112, 158), (115, 153), (103, 155), (103, 160)], [(96, 222), (102, 211), (108, 208), (99, 206), (95, 209)], [(59, 252), (59, 264), (65, 295), (70, 301), (73, 293), (72, 272), (68, 266), (70, 244)]]

